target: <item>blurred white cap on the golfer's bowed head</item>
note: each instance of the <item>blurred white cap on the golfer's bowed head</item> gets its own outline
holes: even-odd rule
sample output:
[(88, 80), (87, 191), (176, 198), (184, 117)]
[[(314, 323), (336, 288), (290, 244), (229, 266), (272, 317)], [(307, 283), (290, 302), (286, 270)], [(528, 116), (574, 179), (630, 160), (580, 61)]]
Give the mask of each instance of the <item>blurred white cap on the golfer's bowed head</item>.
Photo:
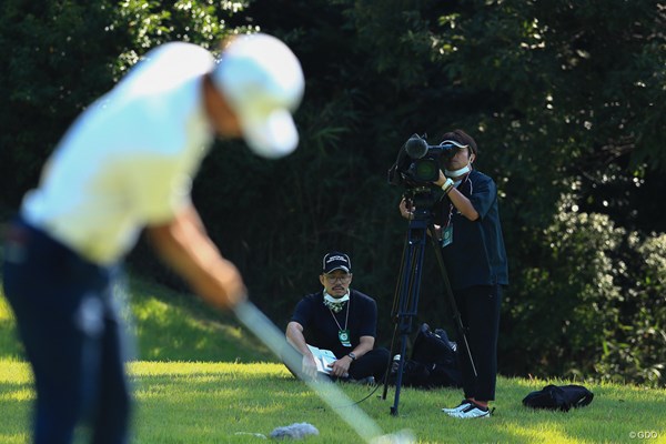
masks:
[(296, 149), (292, 112), (301, 103), (305, 80), (286, 44), (264, 33), (240, 36), (223, 51), (212, 78), (252, 151), (280, 158)]

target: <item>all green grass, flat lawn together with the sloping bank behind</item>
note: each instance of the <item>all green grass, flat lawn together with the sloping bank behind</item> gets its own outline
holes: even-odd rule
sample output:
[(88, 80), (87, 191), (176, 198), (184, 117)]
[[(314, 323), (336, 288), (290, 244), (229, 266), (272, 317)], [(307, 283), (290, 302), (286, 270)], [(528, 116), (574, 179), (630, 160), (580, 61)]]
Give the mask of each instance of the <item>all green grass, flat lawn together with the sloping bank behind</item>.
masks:
[[(303, 383), (238, 326), (196, 300), (159, 285), (132, 281), (138, 360), (134, 384), (135, 443), (259, 443), (279, 426), (307, 422), (319, 431), (309, 443), (356, 443), (359, 437)], [(0, 297), (0, 443), (29, 442), (34, 393), (21, 360), (13, 320)], [(457, 404), (458, 390), (404, 387), (400, 414), (394, 391), (343, 385), (385, 432), (408, 428), (421, 443), (666, 443), (666, 391), (632, 385), (585, 384), (591, 405), (568, 413), (529, 411), (522, 398), (547, 383), (500, 377), (495, 416), (458, 421), (440, 412)], [(339, 406), (337, 408), (350, 408)], [(649, 438), (632, 437), (648, 433)], [(656, 438), (653, 437), (656, 434)]]

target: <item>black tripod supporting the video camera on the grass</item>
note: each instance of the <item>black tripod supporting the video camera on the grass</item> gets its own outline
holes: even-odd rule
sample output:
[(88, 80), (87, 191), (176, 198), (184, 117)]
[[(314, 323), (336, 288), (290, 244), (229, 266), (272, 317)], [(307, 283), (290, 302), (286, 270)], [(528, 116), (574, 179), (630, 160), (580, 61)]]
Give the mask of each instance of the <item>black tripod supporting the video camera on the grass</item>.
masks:
[[(393, 309), (391, 312), (392, 317), (395, 320), (395, 329), (391, 340), (390, 356), (393, 356), (396, 334), (400, 334), (400, 361), (395, 380), (395, 398), (393, 406), (391, 407), (391, 414), (394, 416), (397, 415), (397, 404), (400, 402), (400, 391), (403, 379), (407, 337), (413, 332), (412, 322), (416, 316), (416, 310), (418, 307), (421, 278), (423, 272), (423, 256), (425, 253), (426, 239), (428, 238), (435, 252), (437, 265), (444, 281), (444, 291), (446, 293), (448, 303), (451, 305), (451, 311), (453, 313), (453, 319), (455, 321), (458, 342), (463, 343), (462, 349), (467, 353), (467, 359), (470, 360), (474, 376), (477, 376), (476, 366), (474, 365), (474, 360), (472, 359), (472, 352), (470, 351), (470, 344), (467, 343), (467, 336), (465, 335), (465, 329), (463, 326), (461, 313), (457, 310), (453, 291), (451, 290), (451, 282), (448, 281), (448, 275), (446, 274), (442, 251), (440, 250), (440, 245), (434, 236), (434, 224), (431, 222), (431, 210), (434, 204), (434, 196), (428, 188), (418, 188), (410, 193), (408, 199), (412, 201), (412, 205), (415, 208), (415, 210), (413, 212), (413, 218), (410, 220), (410, 226), (405, 238), (405, 245), (400, 266), (400, 276), (395, 287), (395, 296), (393, 299)], [(427, 234), (428, 229), (433, 235)], [(384, 393), (382, 395), (383, 400), (386, 398), (386, 393), (389, 391), (389, 374), (391, 372), (391, 365), (392, 363), (390, 363), (389, 369), (386, 370), (386, 377), (384, 377)]]

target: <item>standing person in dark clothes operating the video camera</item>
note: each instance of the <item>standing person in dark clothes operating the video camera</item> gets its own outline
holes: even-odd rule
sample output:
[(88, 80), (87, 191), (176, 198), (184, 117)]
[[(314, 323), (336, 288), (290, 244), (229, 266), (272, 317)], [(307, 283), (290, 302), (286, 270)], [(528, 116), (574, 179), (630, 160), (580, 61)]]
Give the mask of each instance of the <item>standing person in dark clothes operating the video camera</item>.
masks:
[[(467, 353), (460, 353), (465, 398), (458, 406), (442, 411), (460, 418), (490, 417), (488, 402), (495, 400), (502, 287), (508, 284), (497, 186), (472, 168), (477, 155), (472, 137), (455, 130), (444, 134), (442, 143), (457, 150), (442, 158), (445, 170), (434, 182), (444, 191), (433, 209), (435, 235), (477, 373), (475, 376)], [(404, 199), (400, 211), (403, 218), (413, 218), (414, 208)]]

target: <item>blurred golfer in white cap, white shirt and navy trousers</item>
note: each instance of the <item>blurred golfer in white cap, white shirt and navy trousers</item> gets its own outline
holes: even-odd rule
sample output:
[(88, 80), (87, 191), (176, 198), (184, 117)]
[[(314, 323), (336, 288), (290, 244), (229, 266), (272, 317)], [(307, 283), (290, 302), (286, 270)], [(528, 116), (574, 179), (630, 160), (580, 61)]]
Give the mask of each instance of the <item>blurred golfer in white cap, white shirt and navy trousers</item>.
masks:
[(256, 153), (292, 152), (301, 65), (280, 40), (235, 38), (221, 60), (173, 42), (149, 52), (74, 122), (8, 230), (4, 292), (34, 372), (36, 443), (125, 443), (131, 404), (113, 283), (145, 229), (208, 303), (244, 300), (206, 235), (190, 188), (215, 133)]

